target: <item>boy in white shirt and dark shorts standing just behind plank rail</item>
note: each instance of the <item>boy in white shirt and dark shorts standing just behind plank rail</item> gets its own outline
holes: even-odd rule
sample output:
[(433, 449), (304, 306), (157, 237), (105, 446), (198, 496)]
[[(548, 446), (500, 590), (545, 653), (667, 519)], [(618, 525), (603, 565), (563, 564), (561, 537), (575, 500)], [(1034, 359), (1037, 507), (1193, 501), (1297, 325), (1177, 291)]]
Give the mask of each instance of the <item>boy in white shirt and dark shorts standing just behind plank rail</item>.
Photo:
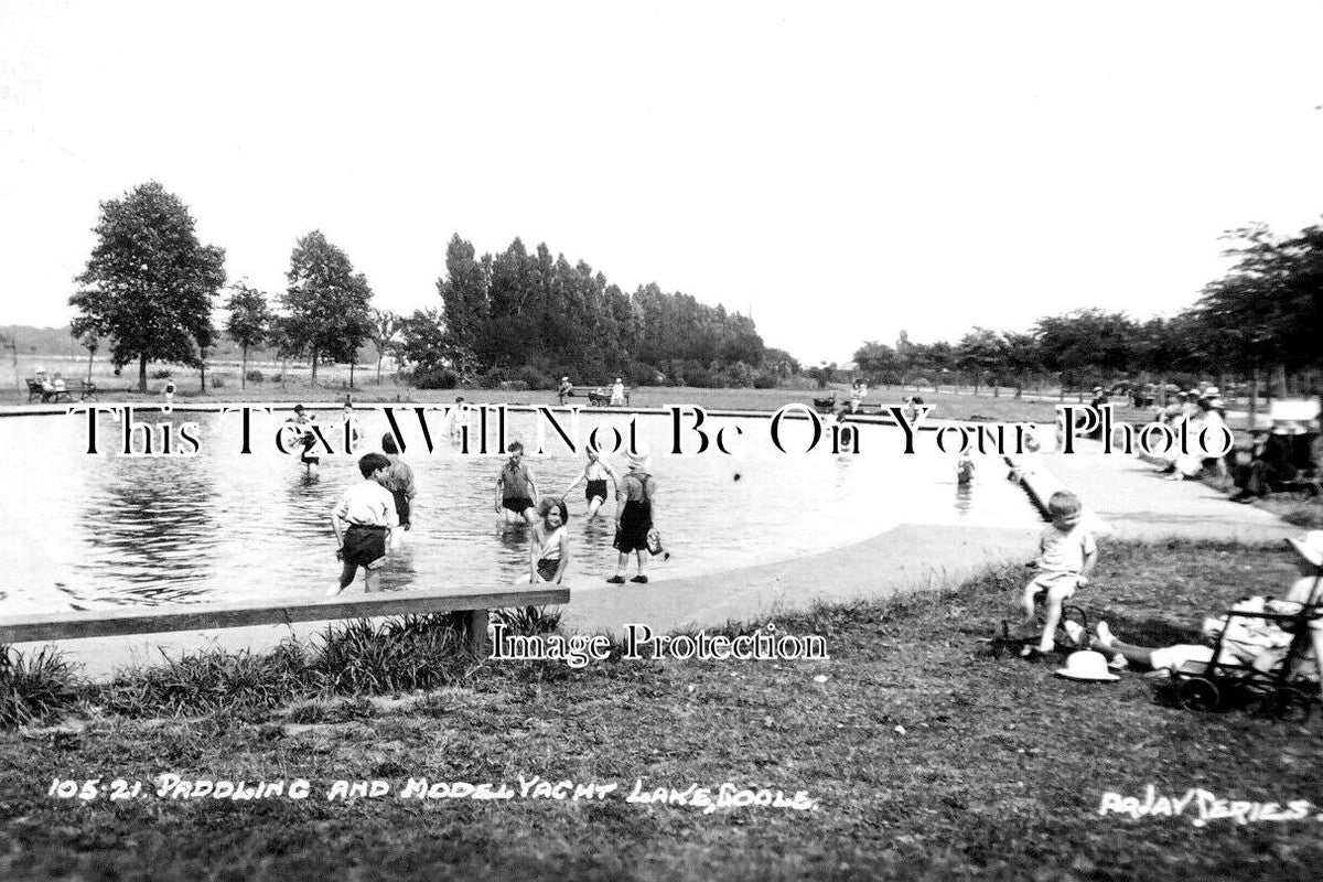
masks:
[(396, 499), (382, 485), (390, 473), (390, 460), (381, 454), (368, 454), (359, 460), (359, 471), (363, 481), (347, 489), (331, 509), (331, 529), (339, 545), (336, 558), (344, 562), (344, 569), (340, 584), (328, 588), (327, 596), (349, 587), (360, 566), (364, 567), (364, 592), (380, 590), (388, 534), (400, 526)]

